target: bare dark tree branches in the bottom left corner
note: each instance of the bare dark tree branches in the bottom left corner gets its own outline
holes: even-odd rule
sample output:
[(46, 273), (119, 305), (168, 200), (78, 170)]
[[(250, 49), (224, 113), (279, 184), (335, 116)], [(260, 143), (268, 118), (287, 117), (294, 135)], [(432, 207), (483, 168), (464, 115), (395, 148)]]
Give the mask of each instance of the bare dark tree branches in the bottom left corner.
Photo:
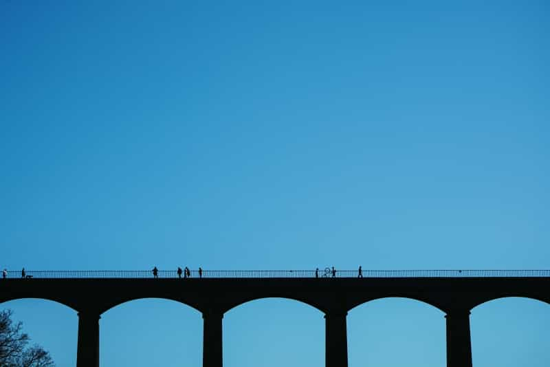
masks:
[(30, 338), (23, 333), (22, 322), (14, 324), (12, 311), (0, 312), (0, 366), (54, 367), (54, 361), (41, 346), (28, 346)]

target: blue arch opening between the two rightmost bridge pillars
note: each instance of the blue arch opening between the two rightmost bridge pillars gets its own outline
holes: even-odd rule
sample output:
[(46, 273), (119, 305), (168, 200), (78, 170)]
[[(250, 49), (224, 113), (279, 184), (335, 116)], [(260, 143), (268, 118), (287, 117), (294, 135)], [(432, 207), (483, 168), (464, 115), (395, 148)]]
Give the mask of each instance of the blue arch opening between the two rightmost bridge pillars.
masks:
[(444, 313), (426, 302), (384, 297), (348, 313), (349, 366), (446, 364)]

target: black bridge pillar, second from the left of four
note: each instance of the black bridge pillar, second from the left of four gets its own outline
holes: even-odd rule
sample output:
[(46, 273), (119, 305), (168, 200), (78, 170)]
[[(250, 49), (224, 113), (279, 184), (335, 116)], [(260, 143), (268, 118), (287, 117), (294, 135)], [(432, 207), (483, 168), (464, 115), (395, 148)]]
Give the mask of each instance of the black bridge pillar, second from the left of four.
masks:
[(202, 366), (203, 367), (222, 367), (222, 319), (223, 313), (219, 311), (207, 312), (202, 314), (204, 320), (203, 326), (203, 347), (202, 347)]

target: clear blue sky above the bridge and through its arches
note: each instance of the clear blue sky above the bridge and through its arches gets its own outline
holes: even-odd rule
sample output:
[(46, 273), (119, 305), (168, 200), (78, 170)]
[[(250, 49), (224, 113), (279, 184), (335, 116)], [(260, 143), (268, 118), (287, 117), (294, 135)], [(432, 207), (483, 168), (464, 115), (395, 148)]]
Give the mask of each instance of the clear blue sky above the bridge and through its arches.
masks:
[[(0, 266), (549, 269), (549, 23), (544, 1), (1, 1)], [(4, 306), (74, 365), (74, 311)], [(548, 305), (471, 319), (476, 366), (548, 366)], [(236, 308), (225, 366), (322, 365), (323, 322)], [(445, 364), (431, 306), (348, 323), (352, 367)], [(102, 366), (200, 366), (201, 317), (130, 302), (101, 343)]]

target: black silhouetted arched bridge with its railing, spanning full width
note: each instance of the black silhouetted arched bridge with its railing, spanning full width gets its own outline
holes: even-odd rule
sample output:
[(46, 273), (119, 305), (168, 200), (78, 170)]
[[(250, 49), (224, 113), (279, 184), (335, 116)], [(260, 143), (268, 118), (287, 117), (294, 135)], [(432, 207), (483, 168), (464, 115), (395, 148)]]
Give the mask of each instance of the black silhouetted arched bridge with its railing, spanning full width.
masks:
[[(267, 297), (297, 300), (325, 314), (327, 367), (347, 367), (348, 311), (371, 300), (406, 297), (439, 308), (447, 325), (447, 366), (471, 367), (470, 310), (501, 297), (550, 304), (547, 270), (336, 271), (9, 271), (0, 302), (41, 298), (78, 312), (77, 367), (99, 366), (99, 319), (140, 298), (181, 302), (203, 315), (203, 367), (221, 367), (223, 314)], [(30, 278), (32, 277), (32, 278)]]

